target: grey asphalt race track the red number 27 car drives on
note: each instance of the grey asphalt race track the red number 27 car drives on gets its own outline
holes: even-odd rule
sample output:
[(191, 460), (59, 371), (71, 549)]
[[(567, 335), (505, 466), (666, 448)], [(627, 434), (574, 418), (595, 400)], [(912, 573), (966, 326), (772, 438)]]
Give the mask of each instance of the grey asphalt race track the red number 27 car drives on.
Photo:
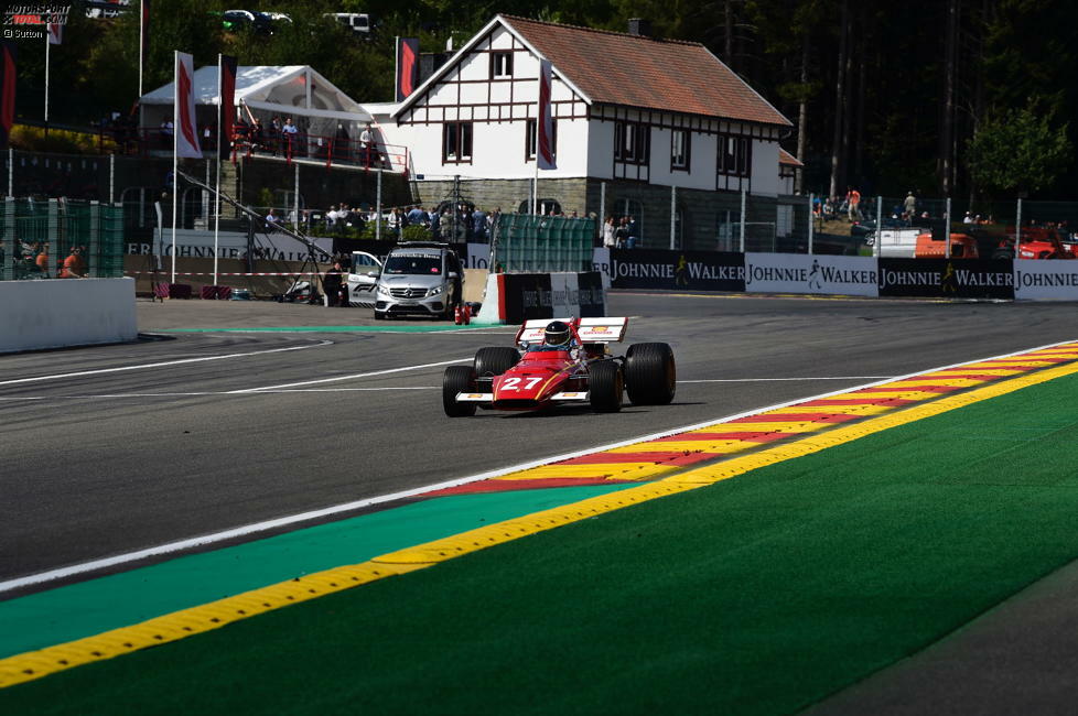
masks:
[[(612, 314), (635, 317), (630, 339), (675, 346), (673, 405), (444, 419), (442, 368), (412, 367), (504, 345), (505, 328), (182, 333), (6, 357), (0, 579), (1075, 338), (1065, 304), (628, 294), (611, 303)], [(366, 312), (295, 305), (139, 310), (145, 332), (374, 325), (357, 319)]]

